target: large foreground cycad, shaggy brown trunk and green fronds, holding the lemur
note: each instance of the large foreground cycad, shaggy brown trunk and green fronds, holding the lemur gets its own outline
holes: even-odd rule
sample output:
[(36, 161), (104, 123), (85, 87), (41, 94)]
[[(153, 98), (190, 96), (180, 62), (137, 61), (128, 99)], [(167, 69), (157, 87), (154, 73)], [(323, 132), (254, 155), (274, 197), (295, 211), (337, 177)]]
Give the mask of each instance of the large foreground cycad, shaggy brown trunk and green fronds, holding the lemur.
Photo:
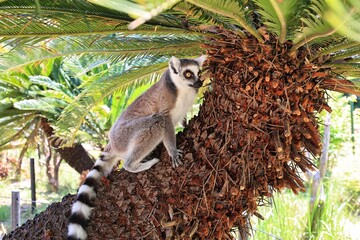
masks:
[[(19, 2), (28, 7), (16, 8)], [(234, 227), (246, 235), (247, 219), (261, 218), (257, 207), (266, 204), (274, 190), (304, 190), (299, 172), (314, 168), (306, 152), (318, 156), (321, 150), (316, 113), (331, 112), (326, 91), (360, 94), (360, 43), (324, 19), (331, 16), (324, 1), (149, 1), (145, 6), (136, 1), (92, 2), (141, 16), (134, 22), (79, 0), (43, 5), (6, 1), (2, 5), (7, 8), (0, 7), (11, 16), (16, 14), (9, 9), (27, 12), (11, 18), (12, 23), (29, 19), (18, 24), (22, 38), (11, 41), (18, 46), (8, 55), (28, 43), (41, 49), (38, 54), (32, 53), (36, 48), (27, 51), (28, 57), (15, 67), (80, 55), (94, 56), (89, 68), (129, 64), (124, 71), (107, 70), (87, 82), (87, 90), (60, 118), (59, 134), (64, 129), (76, 134), (100, 99), (156, 76), (153, 72), (163, 71), (171, 55), (206, 52), (211, 82), (198, 116), (178, 135), (185, 167), (172, 169), (160, 148), (157, 154), (163, 161), (151, 170), (113, 173), (110, 185), (99, 189), (88, 227), (91, 239), (227, 239)], [(124, 2), (131, 4), (123, 8)], [(359, 9), (352, 7), (351, 18), (344, 16), (340, 25), (359, 21)], [(129, 23), (134, 30), (128, 30)], [(41, 32), (47, 41), (36, 37)], [(53, 44), (64, 41), (67, 44)], [(141, 62), (133, 62), (140, 57)], [(64, 236), (71, 200), (41, 215), (42, 221), (56, 221), (56, 226), (36, 231), (37, 226), (30, 225), (35, 231), (26, 230), (27, 236)], [(22, 229), (11, 237), (21, 238)]]

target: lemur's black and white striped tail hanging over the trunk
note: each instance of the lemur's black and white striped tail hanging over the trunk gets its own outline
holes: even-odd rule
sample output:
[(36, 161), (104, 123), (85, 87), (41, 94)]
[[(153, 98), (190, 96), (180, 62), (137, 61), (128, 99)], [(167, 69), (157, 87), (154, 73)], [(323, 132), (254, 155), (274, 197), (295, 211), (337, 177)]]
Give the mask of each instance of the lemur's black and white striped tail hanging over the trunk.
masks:
[(79, 188), (76, 201), (71, 208), (67, 240), (85, 240), (87, 238), (85, 227), (90, 222), (97, 186), (100, 179), (110, 173), (112, 167), (112, 161), (106, 156), (106, 153), (103, 153), (87, 174), (85, 182)]

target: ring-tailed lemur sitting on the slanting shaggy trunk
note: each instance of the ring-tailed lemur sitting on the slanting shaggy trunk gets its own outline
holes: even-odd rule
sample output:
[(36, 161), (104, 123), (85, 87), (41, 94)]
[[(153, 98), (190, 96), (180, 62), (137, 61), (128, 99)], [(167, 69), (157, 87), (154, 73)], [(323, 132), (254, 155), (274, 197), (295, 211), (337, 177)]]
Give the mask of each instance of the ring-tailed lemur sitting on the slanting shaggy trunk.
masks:
[(68, 240), (87, 238), (84, 228), (94, 207), (96, 186), (120, 159), (124, 160), (123, 167), (129, 172), (147, 170), (159, 159), (142, 160), (162, 141), (172, 166), (182, 164), (174, 126), (184, 118), (202, 86), (200, 70), (205, 60), (205, 55), (197, 59), (171, 57), (169, 68), (161, 79), (120, 115), (110, 130), (104, 152), (79, 188), (69, 218)]

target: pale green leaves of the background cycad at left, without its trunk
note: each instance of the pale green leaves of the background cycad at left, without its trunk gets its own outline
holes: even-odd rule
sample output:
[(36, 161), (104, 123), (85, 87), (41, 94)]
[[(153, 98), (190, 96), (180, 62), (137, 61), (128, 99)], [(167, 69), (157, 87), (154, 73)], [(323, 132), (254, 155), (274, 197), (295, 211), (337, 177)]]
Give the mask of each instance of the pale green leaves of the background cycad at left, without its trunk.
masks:
[[(22, 139), (27, 139), (21, 141), (24, 143), (23, 152), (34, 146), (36, 138), (42, 136), (40, 121), (45, 118), (53, 125), (81, 92), (80, 82), (64, 72), (61, 59), (50, 62), (52, 64), (44, 62), (34, 68), (29, 66), (24, 72), (12, 72), (0, 79), (0, 83), (9, 86), (1, 93), (0, 130), (3, 135), (0, 148), (7, 149), (13, 141)], [(92, 141), (104, 137), (104, 126), (95, 119), (90, 115), (82, 126), (82, 131), (88, 133), (82, 135)]]

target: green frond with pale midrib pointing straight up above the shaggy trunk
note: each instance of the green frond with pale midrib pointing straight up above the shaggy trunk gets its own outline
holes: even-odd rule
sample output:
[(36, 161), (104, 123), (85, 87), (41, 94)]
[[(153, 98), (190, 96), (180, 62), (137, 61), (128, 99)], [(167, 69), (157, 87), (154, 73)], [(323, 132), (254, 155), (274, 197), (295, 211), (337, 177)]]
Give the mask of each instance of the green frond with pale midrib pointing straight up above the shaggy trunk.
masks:
[[(301, 11), (302, 1), (288, 0), (255, 0), (261, 9), (258, 12), (262, 15), (263, 23), (279, 36), (279, 41), (284, 43), (288, 37), (290, 26), (296, 25), (299, 19), (294, 18), (294, 12)], [(297, 20), (297, 21), (296, 21)]]

